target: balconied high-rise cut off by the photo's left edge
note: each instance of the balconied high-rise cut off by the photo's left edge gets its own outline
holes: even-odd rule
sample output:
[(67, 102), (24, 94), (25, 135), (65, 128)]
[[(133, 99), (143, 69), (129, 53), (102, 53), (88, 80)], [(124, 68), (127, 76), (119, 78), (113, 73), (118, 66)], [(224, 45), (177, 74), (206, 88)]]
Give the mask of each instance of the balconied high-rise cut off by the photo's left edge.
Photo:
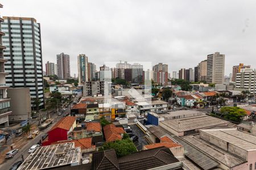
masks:
[[(0, 4), (0, 8), (2, 8)], [(2, 25), (3, 19), (0, 18), (0, 28)], [(0, 126), (9, 126), (9, 115), (12, 113), (10, 111), (10, 99), (7, 98), (7, 86), (5, 82), (5, 62), (7, 59), (3, 58), (3, 50), (6, 49), (6, 46), (2, 44), (2, 36), (5, 36), (5, 33), (0, 29)]]

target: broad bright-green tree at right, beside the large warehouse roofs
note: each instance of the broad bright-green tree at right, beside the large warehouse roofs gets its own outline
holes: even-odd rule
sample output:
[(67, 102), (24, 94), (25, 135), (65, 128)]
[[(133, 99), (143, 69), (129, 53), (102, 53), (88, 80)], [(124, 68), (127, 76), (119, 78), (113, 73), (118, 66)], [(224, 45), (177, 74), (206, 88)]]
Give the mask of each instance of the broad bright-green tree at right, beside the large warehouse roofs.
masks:
[(246, 116), (245, 110), (240, 107), (223, 107), (221, 108), (221, 113), (224, 115), (226, 120), (238, 123), (241, 122), (242, 117)]

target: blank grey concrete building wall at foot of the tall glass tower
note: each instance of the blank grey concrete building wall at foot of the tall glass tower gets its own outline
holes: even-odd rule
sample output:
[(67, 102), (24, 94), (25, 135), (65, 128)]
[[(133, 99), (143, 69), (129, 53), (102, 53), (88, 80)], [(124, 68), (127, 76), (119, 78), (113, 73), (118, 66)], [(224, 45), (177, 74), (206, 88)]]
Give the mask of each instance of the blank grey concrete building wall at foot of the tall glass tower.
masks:
[(11, 113), (9, 121), (23, 121), (31, 116), (30, 88), (9, 88), (7, 96), (11, 98)]

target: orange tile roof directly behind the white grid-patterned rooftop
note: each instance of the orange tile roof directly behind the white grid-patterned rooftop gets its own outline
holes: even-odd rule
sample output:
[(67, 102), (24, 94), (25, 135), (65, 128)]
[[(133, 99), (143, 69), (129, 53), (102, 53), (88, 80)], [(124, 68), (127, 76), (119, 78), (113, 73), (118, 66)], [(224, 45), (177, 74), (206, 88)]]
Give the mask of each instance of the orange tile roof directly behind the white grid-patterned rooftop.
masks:
[(88, 148), (95, 148), (95, 146), (92, 145), (92, 138), (81, 138), (81, 139), (75, 139), (75, 140), (58, 141), (58, 142), (51, 143), (51, 145), (60, 144), (60, 143), (69, 143), (69, 142), (74, 142), (75, 147), (80, 147), (81, 150), (88, 149)]

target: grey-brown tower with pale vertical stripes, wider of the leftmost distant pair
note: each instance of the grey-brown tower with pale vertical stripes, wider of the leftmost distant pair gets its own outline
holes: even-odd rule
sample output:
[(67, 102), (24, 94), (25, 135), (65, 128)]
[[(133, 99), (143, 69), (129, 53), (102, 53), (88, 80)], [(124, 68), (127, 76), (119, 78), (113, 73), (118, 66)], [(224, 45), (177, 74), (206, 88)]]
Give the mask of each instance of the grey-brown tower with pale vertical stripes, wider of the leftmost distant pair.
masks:
[(57, 57), (57, 76), (59, 79), (70, 78), (70, 60), (69, 55), (60, 53)]

